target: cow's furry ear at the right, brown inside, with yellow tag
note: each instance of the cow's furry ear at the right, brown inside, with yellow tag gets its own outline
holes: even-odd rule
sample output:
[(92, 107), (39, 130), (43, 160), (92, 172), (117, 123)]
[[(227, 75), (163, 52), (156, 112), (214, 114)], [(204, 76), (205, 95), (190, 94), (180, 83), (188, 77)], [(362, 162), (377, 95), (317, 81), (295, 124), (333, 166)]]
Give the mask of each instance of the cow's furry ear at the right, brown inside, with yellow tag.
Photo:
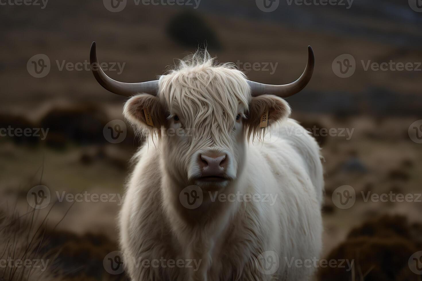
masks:
[[(266, 116), (267, 112), (268, 115)], [(249, 136), (260, 135), (262, 131), (265, 131), (265, 128), (272, 126), (279, 120), (288, 118), (290, 113), (289, 104), (278, 96), (262, 95), (253, 97), (246, 112), (247, 119), (244, 123), (246, 132)], [(266, 124), (265, 118), (268, 119)], [(264, 122), (262, 122), (263, 120)]]

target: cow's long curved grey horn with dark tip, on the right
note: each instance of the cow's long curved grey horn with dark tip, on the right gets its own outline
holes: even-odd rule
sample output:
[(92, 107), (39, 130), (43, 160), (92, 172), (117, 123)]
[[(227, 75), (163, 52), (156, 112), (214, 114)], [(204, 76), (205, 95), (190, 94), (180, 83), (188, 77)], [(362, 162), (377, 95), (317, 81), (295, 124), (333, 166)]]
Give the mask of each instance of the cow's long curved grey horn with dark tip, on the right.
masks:
[(305, 71), (295, 82), (285, 85), (269, 85), (254, 81), (249, 81), (248, 84), (252, 90), (252, 96), (260, 96), (263, 94), (273, 94), (280, 97), (292, 96), (300, 92), (311, 80), (312, 72), (314, 72), (315, 57), (311, 46), (308, 46), (308, 64), (306, 64)]

